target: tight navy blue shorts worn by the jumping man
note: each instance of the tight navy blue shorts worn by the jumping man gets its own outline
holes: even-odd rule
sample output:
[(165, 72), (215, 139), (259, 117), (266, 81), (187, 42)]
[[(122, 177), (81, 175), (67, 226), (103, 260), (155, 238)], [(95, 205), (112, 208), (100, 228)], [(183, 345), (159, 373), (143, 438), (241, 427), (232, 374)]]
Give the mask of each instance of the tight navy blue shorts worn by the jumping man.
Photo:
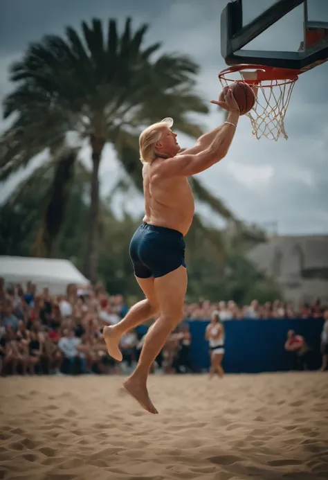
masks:
[(130, 243), (130, 257), (138, 278), (158, 278), (185, 267), (185, 242), (177, 230), (143, 223)]

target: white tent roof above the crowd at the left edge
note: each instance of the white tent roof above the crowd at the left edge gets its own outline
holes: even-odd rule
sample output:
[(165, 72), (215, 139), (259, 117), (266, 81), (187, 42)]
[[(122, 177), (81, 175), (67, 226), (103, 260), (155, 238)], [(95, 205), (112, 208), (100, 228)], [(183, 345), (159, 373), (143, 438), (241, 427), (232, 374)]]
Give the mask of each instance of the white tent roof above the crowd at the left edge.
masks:
[(37, 290), (49, 287), (52, 294), (64, 294), (69, 283), (87, 285), (89, 280), (69, 260), (0, 256), (0, 277), (6, 283), (33, 281)]

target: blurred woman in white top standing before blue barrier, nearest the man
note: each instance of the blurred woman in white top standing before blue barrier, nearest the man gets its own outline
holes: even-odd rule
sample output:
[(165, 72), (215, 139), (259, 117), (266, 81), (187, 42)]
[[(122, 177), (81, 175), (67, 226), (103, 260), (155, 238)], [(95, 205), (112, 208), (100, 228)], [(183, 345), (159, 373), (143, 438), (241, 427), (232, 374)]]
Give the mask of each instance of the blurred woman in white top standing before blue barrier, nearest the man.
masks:
[(205, 338), (210, 346), (210, 378), (215, 373), (224, 376), (221, 362), (224, 357), (224, 326), (221, 323), (219, 312), (212, 312), (210, 323), (206, 327)]

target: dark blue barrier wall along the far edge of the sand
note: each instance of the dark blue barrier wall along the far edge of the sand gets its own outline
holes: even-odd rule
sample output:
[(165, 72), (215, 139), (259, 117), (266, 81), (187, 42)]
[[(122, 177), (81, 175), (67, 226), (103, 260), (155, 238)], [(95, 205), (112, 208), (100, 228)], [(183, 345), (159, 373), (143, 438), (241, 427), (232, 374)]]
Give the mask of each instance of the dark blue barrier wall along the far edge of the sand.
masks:
[[(208, 342), (204, 339), (208, 321), (188, 321), (192, 335), (191, 356), (194, 366), (207, 369), (210, 364)], [(291, 357), (284, 350), (288, 330), (302, 335), (311, 349), (309, 368), (320, 367), (320, 334), (322, 319), (229, 320), (226, 330), (226, 373), (260, 373), (288, 371)], [(145, 332), (147, 327), (138, 327)]]

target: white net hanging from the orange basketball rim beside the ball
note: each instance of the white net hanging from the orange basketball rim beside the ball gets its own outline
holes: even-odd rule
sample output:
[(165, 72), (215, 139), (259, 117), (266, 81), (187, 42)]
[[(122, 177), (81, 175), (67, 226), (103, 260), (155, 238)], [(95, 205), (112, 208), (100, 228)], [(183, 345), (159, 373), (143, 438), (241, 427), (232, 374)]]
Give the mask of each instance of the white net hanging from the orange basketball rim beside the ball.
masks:
[[(262, 136), (275, 141), (280, 136), (288, 139), (284, 118), (297, 75), (290, 75), (293, 78), (281, 80), (256, 80), (258, 71), (233, 71), (224, 75), (221, 73), (219, 80), (222, 87), (228, 87), (236, 81), (246, 81), (253, 87), (255, 104), (246, 115), (250, 118), (252, 133), (257, 139)], [(230, 78), (231, 75), (233, 78)]]

